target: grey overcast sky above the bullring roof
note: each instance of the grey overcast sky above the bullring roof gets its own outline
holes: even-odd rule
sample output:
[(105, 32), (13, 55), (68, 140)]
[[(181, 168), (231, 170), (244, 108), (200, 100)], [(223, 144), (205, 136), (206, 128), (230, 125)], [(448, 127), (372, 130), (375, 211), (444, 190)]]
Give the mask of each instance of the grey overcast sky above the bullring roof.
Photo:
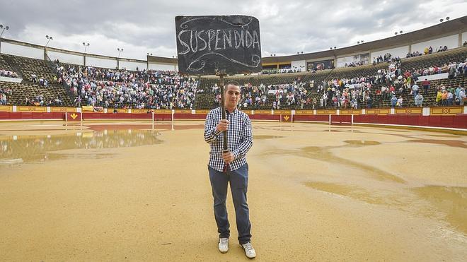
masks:
[(175, 16), (255, 16), (263, 56), (317, 52), (379, 40), (467, 15), (465, 0), (436, 1), (22, 1), (2, 0), (3, 37), (51, 47), (146, 59), (175, 56)]

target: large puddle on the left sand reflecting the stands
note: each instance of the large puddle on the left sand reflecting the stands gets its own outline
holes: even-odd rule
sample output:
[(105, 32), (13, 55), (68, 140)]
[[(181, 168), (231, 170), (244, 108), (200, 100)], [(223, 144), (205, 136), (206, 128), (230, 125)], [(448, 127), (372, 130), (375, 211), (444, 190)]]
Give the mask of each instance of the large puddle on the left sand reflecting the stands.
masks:
[(158, 132), (146, 130), (103, 130), (57, 136), (13, 136), (0, 140), (0, 166), (22, 162), (59, 160), (71, 157), (105, 158), (113, 154), (60, 154), (52, 151), (69, 149), (127, 148), (139, 145), (154, 145), (162, 141)]

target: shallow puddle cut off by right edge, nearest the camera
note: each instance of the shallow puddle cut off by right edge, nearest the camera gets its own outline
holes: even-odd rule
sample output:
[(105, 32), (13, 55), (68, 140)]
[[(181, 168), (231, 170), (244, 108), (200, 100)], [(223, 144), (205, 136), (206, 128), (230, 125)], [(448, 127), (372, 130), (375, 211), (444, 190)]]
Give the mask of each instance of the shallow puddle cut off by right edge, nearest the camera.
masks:
[[(435, 210), (445, 214), (445, 220), (456, 230), (467, 234), (467, 188), (454, 186), (424, 186), (412, 189), (429, 201)], [(433, 210), (430, 210), (432, 212)], [(426, 214), (430, 215), (430, 214)], [(432, 214), (435, 215), (435, 214)]]

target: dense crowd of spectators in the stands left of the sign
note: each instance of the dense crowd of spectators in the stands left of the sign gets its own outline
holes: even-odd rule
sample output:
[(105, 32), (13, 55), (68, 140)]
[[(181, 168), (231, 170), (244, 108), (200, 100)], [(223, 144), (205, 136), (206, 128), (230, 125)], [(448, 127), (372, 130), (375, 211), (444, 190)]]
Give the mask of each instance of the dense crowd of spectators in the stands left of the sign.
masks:
[(100, 69), (59, 61), (56, 68), (59, 83), (76, 97), (76, 107), (192, 109), (197, 93), (195, 78), (175, 71)]

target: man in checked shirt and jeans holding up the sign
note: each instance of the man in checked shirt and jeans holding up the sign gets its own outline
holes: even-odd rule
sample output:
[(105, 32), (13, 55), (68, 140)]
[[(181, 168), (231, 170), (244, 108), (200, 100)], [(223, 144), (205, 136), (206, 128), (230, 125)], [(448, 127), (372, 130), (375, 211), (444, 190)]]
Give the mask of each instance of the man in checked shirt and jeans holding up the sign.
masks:
[[(256, 256), (250, 243), (250, 218), (246, 192), (248, 189), (248, 163), (246, 153), (253, 145), (251, 122), (248, 115), (237, 109), (240, 88), (236, 81), (229, 81), (224, 90), (226, 119), (221, 119), (221, 107), (212, 109), (204, 124), (204, 141), (211, 146), (209, 153), (209, 179), (214, 197), (214, 217), (219, 232), (219, 251), (229, 251), (230, 224), (227, 218), (227, 185), (235, 207), (238, 242), (248, 258)], [(223, 152), (224, 133), (227, 131), (229, 151)]]

